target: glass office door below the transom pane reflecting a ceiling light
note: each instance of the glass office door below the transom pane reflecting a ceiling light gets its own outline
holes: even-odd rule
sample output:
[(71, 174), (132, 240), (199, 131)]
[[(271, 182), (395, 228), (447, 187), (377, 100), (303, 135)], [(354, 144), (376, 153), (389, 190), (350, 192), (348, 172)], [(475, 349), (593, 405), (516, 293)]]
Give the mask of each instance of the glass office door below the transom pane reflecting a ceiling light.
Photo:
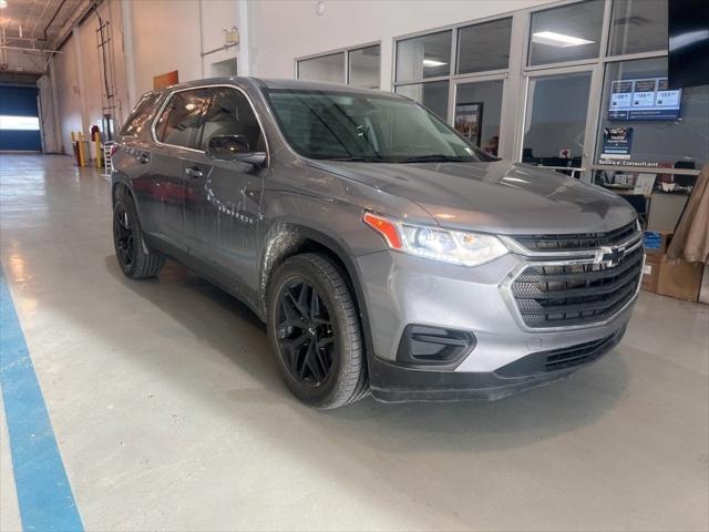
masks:
[(527, 74), (523, 163), (580, 177), (593, 145), (588, 100), (592, 68), (545, 69)]

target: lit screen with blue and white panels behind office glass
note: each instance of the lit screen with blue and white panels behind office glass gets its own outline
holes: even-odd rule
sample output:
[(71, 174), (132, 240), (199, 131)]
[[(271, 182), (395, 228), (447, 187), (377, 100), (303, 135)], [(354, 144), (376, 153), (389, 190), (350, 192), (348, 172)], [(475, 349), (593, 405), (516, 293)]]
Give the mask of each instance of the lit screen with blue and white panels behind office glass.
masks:
[(670, 90), (667, 78), (610, 82), (608, 120), (677, 120), (681, 91)]

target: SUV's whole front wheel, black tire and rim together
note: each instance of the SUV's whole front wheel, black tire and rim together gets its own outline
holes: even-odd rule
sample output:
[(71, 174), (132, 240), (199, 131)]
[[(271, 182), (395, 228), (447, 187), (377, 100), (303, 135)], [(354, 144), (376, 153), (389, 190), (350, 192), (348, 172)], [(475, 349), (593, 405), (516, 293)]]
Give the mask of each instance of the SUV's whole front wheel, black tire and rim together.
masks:
[(297, 255), (268, 287), (268, 337), (288, 388), (304, 403), (338, 408), (369, 391), (357, 307), (337, 266)]

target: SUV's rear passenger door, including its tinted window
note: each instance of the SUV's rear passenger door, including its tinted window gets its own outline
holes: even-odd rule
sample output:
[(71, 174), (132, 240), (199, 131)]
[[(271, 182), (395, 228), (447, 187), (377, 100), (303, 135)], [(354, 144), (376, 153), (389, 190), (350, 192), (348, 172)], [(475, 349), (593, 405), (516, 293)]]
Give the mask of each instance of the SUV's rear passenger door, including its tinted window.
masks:
[(145, 231), (183, 250), (185, 165), (193, 156), (195, 134), (208, 98), (208, 89), (173, 93), (155, 123), (155, 142), (138, 154), (146, 172), (134, 188)]

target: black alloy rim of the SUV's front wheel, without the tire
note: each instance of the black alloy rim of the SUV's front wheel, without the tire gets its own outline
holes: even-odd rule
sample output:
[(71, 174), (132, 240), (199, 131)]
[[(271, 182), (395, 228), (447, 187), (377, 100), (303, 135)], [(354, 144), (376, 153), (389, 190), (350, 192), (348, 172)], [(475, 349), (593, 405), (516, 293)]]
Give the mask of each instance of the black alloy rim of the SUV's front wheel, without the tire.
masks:
[(286, 283), (277, 296), (276, 341), (290, 377), (306, 388), (332, 375), (336, 332), (317, 289), (302, 279)]

